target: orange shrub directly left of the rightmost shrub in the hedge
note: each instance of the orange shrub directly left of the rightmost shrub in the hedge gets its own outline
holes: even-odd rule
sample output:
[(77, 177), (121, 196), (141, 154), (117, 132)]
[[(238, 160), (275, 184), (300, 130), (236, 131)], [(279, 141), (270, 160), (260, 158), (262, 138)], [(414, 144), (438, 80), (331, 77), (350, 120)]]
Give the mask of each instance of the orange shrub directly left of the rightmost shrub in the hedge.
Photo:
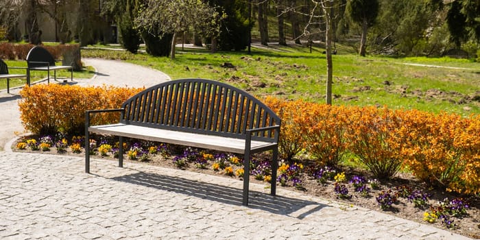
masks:
[(359, 157), (375, 178), (392, 178), (403, 162), (405, 144), (397, 132), (403, 124), (401, 111), (376, 107), (350, 107), (348, 149)]

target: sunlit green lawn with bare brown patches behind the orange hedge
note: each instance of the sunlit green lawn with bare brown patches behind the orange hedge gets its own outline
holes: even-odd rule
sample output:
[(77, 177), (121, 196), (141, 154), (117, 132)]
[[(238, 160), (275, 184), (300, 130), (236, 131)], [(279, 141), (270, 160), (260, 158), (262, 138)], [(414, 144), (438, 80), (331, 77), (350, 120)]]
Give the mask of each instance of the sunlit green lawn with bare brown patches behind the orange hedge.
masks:
[[(252, 55), (248, 55), (246, 51), (210, 53), (206, 49), (179, 48), (176, 59), (170, 60), (145, 53), (82, 49), (82, 57), (121, 59), (158, 69), (172, 79), (202, 77), (228, 82), (257, 96), (322, 103), (326, 82), (323, 50), (313, 47), (310, 53), (309, 48), (299, 46), (252, 47)], [(480, 113), (478, 62), (454, 58), (362, 58), (342, 53), (333, 56), (333, 104), (416, 108), (463, 116)], [(221, 67), (225, 62), (235, 68)], [(80, 77), (80, 73), (74, 74)]]

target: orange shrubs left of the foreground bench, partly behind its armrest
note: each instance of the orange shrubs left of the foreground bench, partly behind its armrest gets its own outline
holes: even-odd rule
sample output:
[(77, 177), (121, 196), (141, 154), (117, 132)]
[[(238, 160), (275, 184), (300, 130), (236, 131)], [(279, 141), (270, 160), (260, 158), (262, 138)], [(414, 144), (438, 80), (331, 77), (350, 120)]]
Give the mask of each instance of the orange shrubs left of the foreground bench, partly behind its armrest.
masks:
[[(86, 110), (120, 108), (123, 101), (141, 90), (59, 84), (25, 86), (20, 92), (21, 121), (26, 130), (36, 134), (81, 133)], [(110, 112), (95, 115), (91, 123), (113, 123), (118, 119), (118, 112)]]

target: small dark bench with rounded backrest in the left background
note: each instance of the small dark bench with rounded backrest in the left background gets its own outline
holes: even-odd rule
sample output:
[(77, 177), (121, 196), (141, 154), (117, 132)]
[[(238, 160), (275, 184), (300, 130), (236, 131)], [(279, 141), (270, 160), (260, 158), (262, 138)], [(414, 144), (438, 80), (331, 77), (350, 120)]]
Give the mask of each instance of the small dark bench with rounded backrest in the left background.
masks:
[(53, 71), (53, 80), (57, 80), (57, 70), (70, 69), (73, 81), (73, 66), (56, 66), (55, 58), (47, 49), (35, 46), (27, 54), (27, 84), (30, 85), (30, 71), (47, 71), (47, 82), (50, 83), (50, 71)]

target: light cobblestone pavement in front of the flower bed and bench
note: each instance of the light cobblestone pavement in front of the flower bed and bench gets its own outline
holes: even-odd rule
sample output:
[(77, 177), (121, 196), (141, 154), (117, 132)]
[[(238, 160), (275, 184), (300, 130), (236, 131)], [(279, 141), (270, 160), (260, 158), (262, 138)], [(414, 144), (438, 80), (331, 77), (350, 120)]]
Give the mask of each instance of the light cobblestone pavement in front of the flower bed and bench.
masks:
[(0, 152), (1, 239), (467, 239), (365, 208), (141, 163)]

